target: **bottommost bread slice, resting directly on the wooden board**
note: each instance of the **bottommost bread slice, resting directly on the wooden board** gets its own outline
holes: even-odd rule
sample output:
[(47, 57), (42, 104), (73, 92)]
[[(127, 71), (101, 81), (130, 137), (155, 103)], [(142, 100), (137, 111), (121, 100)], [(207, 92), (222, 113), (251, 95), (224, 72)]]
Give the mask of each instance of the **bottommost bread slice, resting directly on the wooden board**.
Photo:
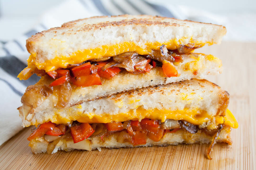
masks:
[[(218, 136), (216, 142), (225, 142), (231, 144), (230, 138), (231, 128), (228, 126), (224, 126)], [(188, 133), (182, 129), (175, 133), (165, 133), (160, 141), (155, 142), (149, 138), (147, 138), (147, 143), (145, 145), (133, 146), (128, 142), (120, 143), (118, 142), (119, 132), (112, 134), (105, 141), (102, 141), (100, 137), (92, 137), (80, 141), (78, 143), (73, 143), (72, 138), (67, 138), (60, 140), (56, 145), (53, 153), (56, 153), (58, 150), (71, 151), (74, 149), (78, 150), (95, 150), (99, 151), (101, 148), (132, 148), (132, 147), (140, 147), (140, 146), (166, 146), (166, 145), (177, 145), (177, 144), (193, 144), (193, 143), (210, 143), (212, 140), (212, 136), (203, 133), (199, 130), (195, 134)], [(38, 154), (41, 152), (47, 151), (47, 142), (44, 137), (36, 138), (30, 141), (29, 146), (31, 147), (31, 151), (34, 154)]]

